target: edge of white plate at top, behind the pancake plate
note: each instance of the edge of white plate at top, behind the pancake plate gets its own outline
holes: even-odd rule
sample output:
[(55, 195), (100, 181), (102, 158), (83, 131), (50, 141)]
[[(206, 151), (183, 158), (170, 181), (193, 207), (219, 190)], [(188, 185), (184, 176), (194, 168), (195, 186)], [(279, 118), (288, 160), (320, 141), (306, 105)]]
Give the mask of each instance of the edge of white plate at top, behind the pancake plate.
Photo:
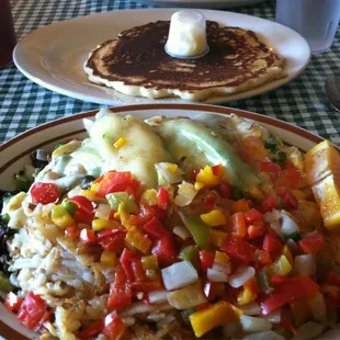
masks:
[(146, 4), (163, 7), (190, 7), (201, 9), (229, 9), (263, 2), (264, 0), (137, 0)]

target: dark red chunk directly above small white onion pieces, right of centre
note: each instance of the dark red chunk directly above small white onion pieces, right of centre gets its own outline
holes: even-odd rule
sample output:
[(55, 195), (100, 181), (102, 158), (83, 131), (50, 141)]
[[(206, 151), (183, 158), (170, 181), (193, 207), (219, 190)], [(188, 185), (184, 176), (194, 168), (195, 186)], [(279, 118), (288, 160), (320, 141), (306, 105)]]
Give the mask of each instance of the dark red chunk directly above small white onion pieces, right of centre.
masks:
[(222, 249), (231, 259), (243, 264), (249, 264), (254, 259), (257, 250), (254, 246), (237, 237), (228, 237)]

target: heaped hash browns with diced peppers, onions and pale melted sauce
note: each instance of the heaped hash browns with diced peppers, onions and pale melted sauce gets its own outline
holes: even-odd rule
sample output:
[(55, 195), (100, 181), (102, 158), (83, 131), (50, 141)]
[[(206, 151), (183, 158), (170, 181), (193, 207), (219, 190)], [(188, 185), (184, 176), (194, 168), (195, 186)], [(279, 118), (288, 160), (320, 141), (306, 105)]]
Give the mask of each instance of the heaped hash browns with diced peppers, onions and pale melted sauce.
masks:
[(26, 327), (43, 339), (281, 340), (338, 322), (339, 262), (311, 192), (338, 169), (331, 145), (305, 162), (237, 116), (103, 109), (84, 126), (2, 208), (1, 290)]

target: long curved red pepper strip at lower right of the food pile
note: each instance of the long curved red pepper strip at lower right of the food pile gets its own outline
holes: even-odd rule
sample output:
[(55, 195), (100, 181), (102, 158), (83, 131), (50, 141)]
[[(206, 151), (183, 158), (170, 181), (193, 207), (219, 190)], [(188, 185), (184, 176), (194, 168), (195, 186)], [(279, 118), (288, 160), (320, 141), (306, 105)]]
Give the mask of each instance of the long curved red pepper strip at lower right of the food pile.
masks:
[(288, 279), (277, 285), (272, 295), (261, 303), (262, 314), (268, 315), (293, 301), (313, 296), (318, 290), (319, 286), (310, 277)]

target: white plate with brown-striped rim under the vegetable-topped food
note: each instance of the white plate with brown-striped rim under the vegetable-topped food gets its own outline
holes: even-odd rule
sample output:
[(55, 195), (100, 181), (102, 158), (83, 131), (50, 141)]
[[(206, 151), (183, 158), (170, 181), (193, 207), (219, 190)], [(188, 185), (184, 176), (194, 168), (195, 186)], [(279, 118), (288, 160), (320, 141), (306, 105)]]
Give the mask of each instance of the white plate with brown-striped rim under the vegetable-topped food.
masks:
[[(227, 115), (236, 113), (239, 116), (260, 123), (273, 134), (280, 136), (283, 141), (292, 144), (306, 151), (324, 139), (306, 129), (274, 120), (264, 115), (212, 105), (199, 104), (152, 104), (113, 107), (113, 112), (127, 115), (132, 114), (139, 118), (149, 118), (155, 115), (163, 116), (189, 116), (194, 118), (202, 114)], [(13, 179), (13, 173), (23, 168), (30, 161), (30, 152), (37, 148), (53, 150), (56, 143), (69, 138), (84, 138), (86, 132), (82, 118), (92, 118), (98, 110), (64, 117), (58, 121), (37, 126), (15, 138), (0, 145), (0, 189), (9, 190), (9, 183)], [(21, 325), (15, 316), (11, 314), (0, 298), (0, 336), (5, 339), (37, 339), (37, 335)], [(340, 339), (340, 327), (322, 335), (317, 340)]]

